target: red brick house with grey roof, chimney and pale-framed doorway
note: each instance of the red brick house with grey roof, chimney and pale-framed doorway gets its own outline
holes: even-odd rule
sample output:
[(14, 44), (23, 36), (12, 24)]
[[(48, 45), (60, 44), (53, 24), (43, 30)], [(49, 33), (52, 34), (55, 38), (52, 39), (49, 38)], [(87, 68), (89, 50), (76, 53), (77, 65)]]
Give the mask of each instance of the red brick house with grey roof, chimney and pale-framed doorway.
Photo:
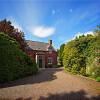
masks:
[(27, 40), (27, 54), (36, 61), (39, 68), (54, 67), (57, 65), (57, 51), (48, 43)]

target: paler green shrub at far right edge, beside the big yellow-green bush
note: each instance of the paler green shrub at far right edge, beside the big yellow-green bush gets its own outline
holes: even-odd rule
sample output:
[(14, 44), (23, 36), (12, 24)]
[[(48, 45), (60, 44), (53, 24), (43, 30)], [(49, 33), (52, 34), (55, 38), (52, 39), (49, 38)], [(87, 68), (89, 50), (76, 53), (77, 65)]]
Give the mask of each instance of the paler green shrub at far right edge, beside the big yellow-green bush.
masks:
[(96, 41), (94, 44), (94, 52), (91, 53), (88, 61), (87, 74), (97, 79), (99, 77), (100, 79), (100, 26), (97, 26), (94, 35), (96, 36)]

